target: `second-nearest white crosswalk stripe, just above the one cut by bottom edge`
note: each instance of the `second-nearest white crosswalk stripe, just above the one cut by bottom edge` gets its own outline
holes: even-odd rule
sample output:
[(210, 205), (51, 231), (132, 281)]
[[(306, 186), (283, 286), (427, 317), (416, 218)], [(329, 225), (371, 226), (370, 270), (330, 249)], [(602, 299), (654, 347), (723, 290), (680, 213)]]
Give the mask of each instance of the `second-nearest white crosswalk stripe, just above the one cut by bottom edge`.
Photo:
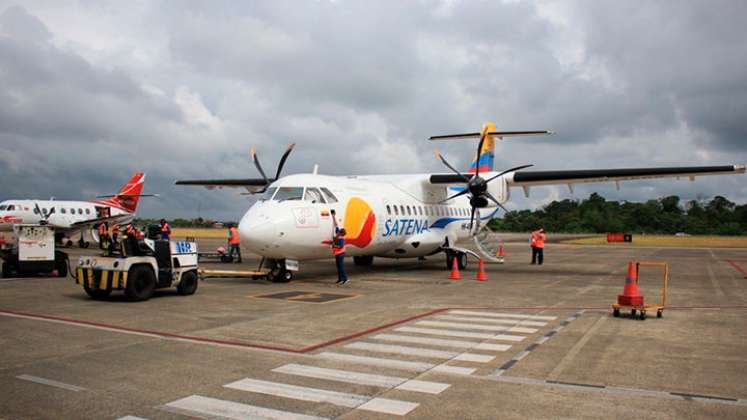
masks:
[(329, 391), (326, 389), (290, 385), (281, 382), (261, 381), (250, 378), (241, 379), (223, 386), (225, 388), (237, 389), (239, 391), (272, 395), (301, 401), (329, 403), (341, 407), (398, 416), (404, 416), (420, 405), (419, 403), (410, 401), (369, 397), (366, 395), (349, 394), (346, 392)]

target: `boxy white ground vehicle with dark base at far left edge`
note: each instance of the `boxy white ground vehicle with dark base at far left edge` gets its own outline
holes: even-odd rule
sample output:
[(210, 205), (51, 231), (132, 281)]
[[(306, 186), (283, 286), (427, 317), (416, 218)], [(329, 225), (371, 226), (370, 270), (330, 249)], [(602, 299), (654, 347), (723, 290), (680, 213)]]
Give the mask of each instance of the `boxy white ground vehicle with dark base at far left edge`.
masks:
[(3, 277), (52, 274), (67, 277), (68, 256), (55, 249), (54, 228), (43, 224), (13, 226), (15, 241), (0, 250)]

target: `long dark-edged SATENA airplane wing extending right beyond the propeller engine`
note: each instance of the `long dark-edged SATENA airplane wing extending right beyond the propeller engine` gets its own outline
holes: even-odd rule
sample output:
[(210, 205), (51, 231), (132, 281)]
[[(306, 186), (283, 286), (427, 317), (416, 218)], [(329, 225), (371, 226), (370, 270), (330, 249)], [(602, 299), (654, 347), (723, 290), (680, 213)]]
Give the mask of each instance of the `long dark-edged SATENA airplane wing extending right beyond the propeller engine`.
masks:
[(744, 173), (742, 165), (726, 166), (684, 166), (670, 168), (625, 168), (625, 169), (585, 169), (569, 171), (517, 171), (508, 175), (508, 185), (524, 188), (535, 185), (573, 184), (605, 181), (630, 181), (653, 178), (689, 178), (694, 180), (704, 175), (729, 175)]

